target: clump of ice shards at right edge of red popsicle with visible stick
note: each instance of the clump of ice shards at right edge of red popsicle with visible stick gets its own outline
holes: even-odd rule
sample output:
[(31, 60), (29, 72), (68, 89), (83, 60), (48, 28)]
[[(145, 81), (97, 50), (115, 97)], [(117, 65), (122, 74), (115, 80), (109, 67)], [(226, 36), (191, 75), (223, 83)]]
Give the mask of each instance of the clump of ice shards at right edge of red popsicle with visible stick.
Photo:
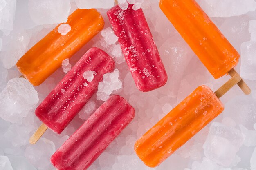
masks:
[(103, 75), (103, 81), (99, 82), (97, 91), (97, 100), (106, 101), (113, 91), (122, 88), (122, 82), (119, 80), (119, 70), (115, 69), (112, 73)]

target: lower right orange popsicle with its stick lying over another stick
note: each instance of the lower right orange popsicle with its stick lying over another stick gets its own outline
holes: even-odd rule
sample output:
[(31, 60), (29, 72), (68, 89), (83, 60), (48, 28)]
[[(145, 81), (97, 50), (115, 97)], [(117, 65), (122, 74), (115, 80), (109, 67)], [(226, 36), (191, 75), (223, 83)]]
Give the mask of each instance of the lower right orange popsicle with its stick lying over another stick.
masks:
[(158, 166), (224, 110), (220, 97), (240, 82), (236, 74), (216, 92), (199, 86), (135, 143), (149, 167)]

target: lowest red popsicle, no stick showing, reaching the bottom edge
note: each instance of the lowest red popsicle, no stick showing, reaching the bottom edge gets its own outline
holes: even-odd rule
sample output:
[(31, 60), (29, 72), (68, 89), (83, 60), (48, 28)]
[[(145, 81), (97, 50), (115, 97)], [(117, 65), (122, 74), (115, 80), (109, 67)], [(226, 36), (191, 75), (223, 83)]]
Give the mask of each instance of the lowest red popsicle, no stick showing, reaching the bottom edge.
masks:
[(86, 170), (134, 116), (123, 97), (111, 96), (52, 155), (52, 164), (58, 170)]

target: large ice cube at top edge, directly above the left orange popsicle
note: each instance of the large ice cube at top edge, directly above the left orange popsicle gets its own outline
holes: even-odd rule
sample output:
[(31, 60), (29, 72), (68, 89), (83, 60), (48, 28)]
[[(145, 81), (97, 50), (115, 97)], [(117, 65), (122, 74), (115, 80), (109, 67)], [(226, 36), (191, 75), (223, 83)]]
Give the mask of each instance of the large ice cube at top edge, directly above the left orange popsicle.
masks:
[(38, 25), (67, 22), (69, 0), (29, 0), (29, 14)]

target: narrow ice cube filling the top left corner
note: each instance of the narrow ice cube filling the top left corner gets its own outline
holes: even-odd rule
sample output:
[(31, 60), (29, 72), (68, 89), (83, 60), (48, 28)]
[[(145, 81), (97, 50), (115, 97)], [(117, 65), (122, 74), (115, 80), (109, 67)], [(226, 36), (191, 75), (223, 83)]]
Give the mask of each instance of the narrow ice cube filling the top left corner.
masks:
[(9, 35), (13, 30), (13, 20), (15, 16), (16, 0), (0, 1), (0, 30)]

